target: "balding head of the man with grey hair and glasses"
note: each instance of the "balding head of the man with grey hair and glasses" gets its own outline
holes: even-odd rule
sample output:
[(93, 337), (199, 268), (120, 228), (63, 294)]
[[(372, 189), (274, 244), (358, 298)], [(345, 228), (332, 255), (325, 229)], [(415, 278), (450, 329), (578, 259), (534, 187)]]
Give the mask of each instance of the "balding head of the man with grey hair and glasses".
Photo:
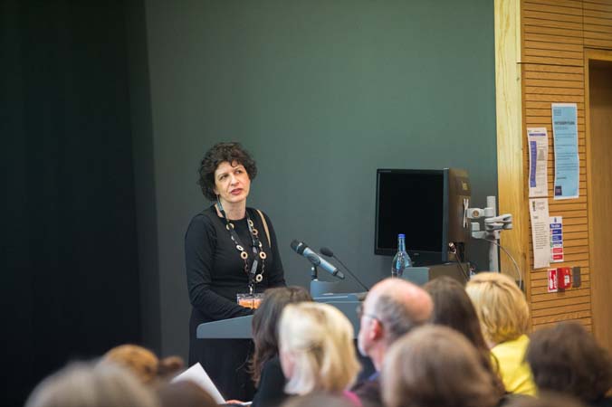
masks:
[(359, 352), (380, 371), (387, 348), (430, 317), (434, 305), (424, 289), (404, 279), (383, 279), (361, 304)]

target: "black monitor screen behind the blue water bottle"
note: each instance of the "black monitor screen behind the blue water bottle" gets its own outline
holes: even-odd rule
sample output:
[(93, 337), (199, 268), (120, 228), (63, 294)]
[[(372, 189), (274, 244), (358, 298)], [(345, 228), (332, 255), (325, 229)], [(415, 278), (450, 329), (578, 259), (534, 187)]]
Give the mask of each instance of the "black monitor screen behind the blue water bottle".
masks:
[(394, 255), (397, 234), (415, 266), (447, 261), (448, 171), (378, 169), (375, 253)]

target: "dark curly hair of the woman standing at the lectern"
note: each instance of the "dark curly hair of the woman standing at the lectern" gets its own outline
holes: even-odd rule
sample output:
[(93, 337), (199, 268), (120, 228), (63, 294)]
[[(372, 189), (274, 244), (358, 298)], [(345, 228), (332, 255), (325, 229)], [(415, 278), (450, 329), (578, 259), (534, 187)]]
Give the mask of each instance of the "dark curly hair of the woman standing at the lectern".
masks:
[(246, 173), (249, 175), (249, 179), (253, 180), (257, 176), (257, 165), (249, 153), (242, 147), (240, 143), (217, 143), (211, 147), (202, 161), (200, 162), (200, 168), (198, 174), (200, 175), (197, 180), (197, 185), (202, 188), (202, 194), (206, 196), (210, 201), (216, 200), (215, 194), (215, 170), (219, 164), (227, 161), (230, 164), (242, 164)]

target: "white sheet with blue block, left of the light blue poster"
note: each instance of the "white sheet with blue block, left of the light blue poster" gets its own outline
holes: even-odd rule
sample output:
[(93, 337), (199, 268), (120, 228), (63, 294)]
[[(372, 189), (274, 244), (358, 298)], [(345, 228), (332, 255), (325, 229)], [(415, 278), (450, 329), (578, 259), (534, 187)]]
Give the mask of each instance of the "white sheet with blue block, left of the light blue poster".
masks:
[(549, 134), (546, 128), (527, 128), (529, 197), (548, 196)]

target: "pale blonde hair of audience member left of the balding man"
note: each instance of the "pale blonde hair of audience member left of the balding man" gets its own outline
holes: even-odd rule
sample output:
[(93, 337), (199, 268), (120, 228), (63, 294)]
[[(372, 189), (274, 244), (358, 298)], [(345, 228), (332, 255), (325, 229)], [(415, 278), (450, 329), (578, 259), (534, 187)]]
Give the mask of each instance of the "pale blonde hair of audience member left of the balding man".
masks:
[(349, 388), (361, 367), (353, 337), (349, 319), (338, 308), (311, 302), (285, 307), (279, 324), (280, 350), (294, 357), (285, 392), (307, 394)]

